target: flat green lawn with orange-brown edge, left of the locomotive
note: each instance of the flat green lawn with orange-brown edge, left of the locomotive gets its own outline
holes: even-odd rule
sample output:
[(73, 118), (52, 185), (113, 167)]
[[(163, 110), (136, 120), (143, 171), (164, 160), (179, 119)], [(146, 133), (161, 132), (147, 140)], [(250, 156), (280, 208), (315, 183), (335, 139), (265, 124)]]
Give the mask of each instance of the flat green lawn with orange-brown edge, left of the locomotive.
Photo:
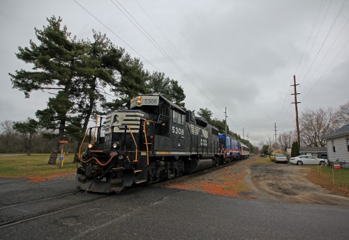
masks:
[(49, 157), (50, 154), (0, 157), (0, 177), (25, 177), (32, 182), (40, 182), (52, 177), (76, 173), (77, 163), (73, 163), (74, 154), (65, 157), (61, 168), (59, 158), (55, 166), (47, 165)]

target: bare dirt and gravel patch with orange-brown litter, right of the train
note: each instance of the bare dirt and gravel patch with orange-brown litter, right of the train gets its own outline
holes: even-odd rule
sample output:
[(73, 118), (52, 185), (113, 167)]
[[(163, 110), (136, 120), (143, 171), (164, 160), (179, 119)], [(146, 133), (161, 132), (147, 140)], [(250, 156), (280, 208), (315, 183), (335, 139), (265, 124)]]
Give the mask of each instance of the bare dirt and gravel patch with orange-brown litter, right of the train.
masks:
[(349, 198), (315, 185), (306, 177), (309, 168), (288, 164), (258, 163), (251, 157), (207, 174), (167, 184), (176, 189), (203, 191), (235, 198), (273, 202), (299, 202), (349, 207)]

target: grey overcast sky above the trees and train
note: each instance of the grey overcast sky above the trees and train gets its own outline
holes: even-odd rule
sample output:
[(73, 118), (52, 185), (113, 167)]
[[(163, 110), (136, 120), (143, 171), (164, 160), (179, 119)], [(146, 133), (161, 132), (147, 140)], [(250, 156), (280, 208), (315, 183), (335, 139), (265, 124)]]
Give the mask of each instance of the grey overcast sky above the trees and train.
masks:
[(8, 73), (30, 69), (17, 48), (35, 42), (34, 27), (54, 15), (78, 39), (106, 33), (144, 69), (179, 81), (187, 109), (207, 108), (221, 120), (227, 107), (232, 131), (267, 143), (275, 123), (278, 134), (295, 129), (294, 74), (300, 114), (349, 101), (347, 1), (1, 0), (0, 122), (45, 109), (50, 95), (25, 99)]

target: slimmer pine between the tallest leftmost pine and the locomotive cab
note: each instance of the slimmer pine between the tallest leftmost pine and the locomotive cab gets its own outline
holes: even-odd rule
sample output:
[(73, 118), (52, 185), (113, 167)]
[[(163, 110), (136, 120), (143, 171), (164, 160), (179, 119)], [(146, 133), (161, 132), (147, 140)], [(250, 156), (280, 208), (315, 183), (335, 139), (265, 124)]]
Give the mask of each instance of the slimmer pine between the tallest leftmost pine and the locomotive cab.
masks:
[(88, 58), (83, 63), (83, 77), (79, 79), (80, 93), (83, 93), (85, 97), (80, 98), (80, 102), (75, 106), (79, 113), (76, 123), (82, 125), (82, 129), (81, 131), (75, 129), (75, 139), (77, 139), (78, 144), (74, 162), (78, 161), (77, 153), (80, 150), (83, 134), (87, 131), (91, 116), (99, 113), (96, 111), (97, 104), (106, 103), (105, 88), (119, 86), (118, 80), (122, 69), (121, 58), (124, 56), (124, 49), (115, 47), (106, 35), (96, 33), (96, 31), (94, 31), (94, 41), (85, 43)]

